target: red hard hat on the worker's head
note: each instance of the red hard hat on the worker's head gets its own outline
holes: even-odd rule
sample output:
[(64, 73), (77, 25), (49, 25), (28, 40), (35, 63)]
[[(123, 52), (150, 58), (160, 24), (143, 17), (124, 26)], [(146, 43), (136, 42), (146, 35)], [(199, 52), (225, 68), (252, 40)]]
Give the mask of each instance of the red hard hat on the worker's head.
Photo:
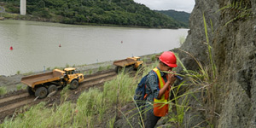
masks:
[(176, 56), (172, 51), (165, 51), (162, 53), (159, 60), (165, 63), (168, 67), (177, 67)]

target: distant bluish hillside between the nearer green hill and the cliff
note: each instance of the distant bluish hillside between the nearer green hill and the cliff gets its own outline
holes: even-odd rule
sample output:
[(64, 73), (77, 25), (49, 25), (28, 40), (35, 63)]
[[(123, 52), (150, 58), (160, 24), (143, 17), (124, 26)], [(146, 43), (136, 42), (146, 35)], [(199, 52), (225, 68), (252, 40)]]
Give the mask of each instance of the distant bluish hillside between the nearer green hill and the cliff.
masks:
[(181, 26), (188, 28), (189, 27), (189, 17), (190, 14), (186, 12), (180, 12), (176, 10), (156, 10), (156, 12), (162, 13), (172, 17), (174, 20), (180, 23)]

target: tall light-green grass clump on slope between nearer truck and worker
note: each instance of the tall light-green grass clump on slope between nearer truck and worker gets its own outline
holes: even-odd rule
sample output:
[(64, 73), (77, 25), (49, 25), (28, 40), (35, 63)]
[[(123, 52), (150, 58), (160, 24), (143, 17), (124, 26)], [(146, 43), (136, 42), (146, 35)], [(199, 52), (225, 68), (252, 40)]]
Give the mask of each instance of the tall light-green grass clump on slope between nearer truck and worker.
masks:
[[(131, 101), (136, 82), (136, 80), (123, 72), (116, 79), (105, 83), (103, 92), (89, 90), (83, 93), (79, 96), (77, 102), (76, 109), (79, 113), (73, 120), (73, 126), (91, 127), (95, 125), (94, 122), (102, 122), (107, 110), (118, 109)], [(94, 115), (96, 115), (96, 118), (93, 118)], [(113, 125), (113, 119), (109, 119), (109, 125)]]

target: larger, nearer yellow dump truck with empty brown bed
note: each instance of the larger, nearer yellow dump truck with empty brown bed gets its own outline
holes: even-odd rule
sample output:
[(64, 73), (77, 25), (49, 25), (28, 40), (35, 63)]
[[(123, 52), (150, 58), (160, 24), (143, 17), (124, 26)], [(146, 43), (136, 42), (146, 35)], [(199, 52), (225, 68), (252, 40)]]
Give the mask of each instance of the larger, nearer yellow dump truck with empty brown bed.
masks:
[(82, 73), (76, 73), (75, 68), (67, 67), (64, 70), (54, 69), (49, 73), (40, 73), (23, 77), (21, 83), (27, 84), (27, 91), (30, 95), (44, 98), (48, 94), (55, 95), (58, 88), (70, 84), (69, 88), (74, 90), (84, 80)]

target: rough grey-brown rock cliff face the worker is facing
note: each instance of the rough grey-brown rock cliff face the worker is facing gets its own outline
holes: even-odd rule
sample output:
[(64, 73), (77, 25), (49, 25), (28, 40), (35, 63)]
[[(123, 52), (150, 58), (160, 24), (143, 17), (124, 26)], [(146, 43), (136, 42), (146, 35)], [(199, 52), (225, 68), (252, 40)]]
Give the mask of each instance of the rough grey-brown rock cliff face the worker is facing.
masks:
[[(190, 108), (184, 124), (209, 126), (208, 119), (214, 119), (212, 125), (218, 128), (256, 127), (256, 0), (195, 0), (189, 35), (181, 49), (207, 66), (203, 15), (218, 70), (211, 101), (214, 113)], [(189, 55), (179, 51), (179, 56), (185, 67), (198, 69)], [(191, 98), (189, 105), (198, 106), (196, 103)]]

